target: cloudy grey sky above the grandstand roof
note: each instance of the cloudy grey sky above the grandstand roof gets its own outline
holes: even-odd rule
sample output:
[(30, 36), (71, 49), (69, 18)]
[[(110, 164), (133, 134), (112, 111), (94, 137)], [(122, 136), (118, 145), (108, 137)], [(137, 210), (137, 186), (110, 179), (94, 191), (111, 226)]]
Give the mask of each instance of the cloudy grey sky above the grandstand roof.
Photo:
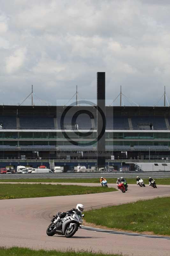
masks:
[(80, 100), (95, 101), (97, 72), (107, 105), (121, 85), (140, 106), (166, 86), (170, 102), (169, 13), (169, 0), (0, 0), (0, 103), (21, 103), (32, 84), (50, 105), (66, 104), (76, 85)]

